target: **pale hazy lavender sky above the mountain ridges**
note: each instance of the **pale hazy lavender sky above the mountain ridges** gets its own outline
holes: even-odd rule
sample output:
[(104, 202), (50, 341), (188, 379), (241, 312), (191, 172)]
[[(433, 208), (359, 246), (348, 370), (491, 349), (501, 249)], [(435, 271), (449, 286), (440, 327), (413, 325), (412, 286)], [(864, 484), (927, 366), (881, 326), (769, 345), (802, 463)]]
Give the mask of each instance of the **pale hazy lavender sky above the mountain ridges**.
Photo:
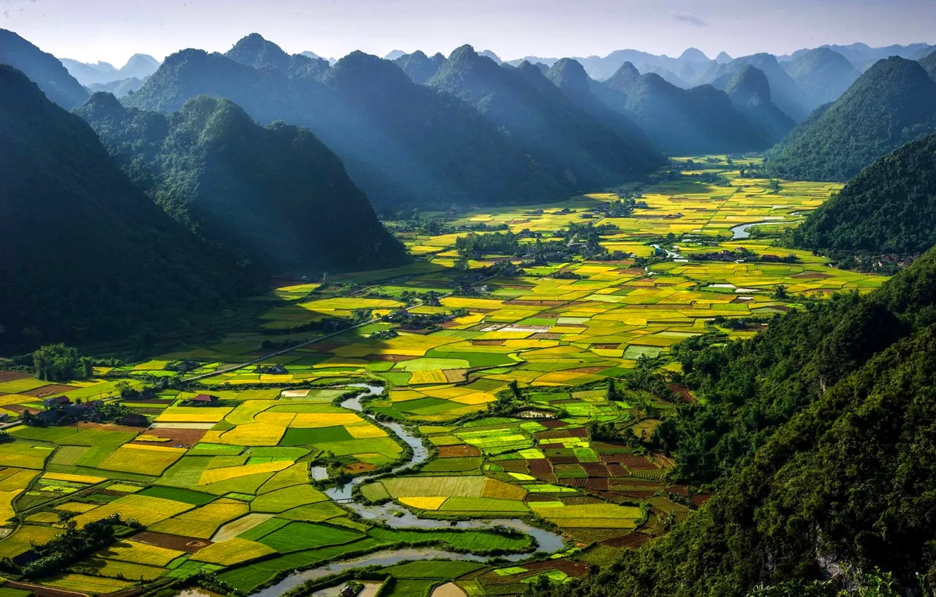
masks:
[(134, 52), (227, 51), (252, 32), (336, 57), (464, 43), (505, 59), (690, 46), (714, 57), (936, 43), (936, 0), (0, 0), (0, 27), (60, 58), (117, 66)]

